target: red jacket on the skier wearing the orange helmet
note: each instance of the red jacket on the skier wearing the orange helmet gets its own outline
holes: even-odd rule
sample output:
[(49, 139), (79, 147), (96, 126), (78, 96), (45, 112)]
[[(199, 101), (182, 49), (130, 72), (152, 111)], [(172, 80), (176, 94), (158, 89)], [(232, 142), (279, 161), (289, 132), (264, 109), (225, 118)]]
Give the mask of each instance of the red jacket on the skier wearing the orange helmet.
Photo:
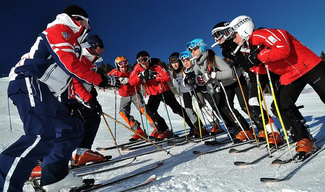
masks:
[[(116, 75), (118, 77), (122, 77), (122, 78), (130, 78), (131, 72), (132, 72), (133, 68), (131, 66), (128, 66), (128, 70), (125, 73), (122, 73), (121, 71), (117, 70), (117, 69), (113, 69), (111, 70), (107, 75)], [(121, 84), (121, 87), (119, 88), (119, 94), (122, 97), (128, 97), (131, 95), (136, 94), (136, 92), (139, 92), (140, 87), (136, 86), (136, 90), (134, 89), (135, 86), (130, 85), (130, 83), (127, 83), (126, 85)]]

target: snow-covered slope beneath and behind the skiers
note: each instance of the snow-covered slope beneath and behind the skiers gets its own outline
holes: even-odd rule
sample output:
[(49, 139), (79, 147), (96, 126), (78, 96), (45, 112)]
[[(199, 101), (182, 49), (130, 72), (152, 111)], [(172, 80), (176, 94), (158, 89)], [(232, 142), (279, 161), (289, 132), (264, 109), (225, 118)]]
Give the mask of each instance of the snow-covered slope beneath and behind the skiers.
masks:
[[(8, 78), (1, 78), (0, 152), (5, 150), (9, 145), (24, 134), (17, 109), (12, 104), (11, 100), (9, 100), (12, 124), (12, 131), (10, 131), (6, 94), (7, 86)], [(114, 117), (114, 94), (112, 92), (102, 92), (102, 90), (99, 90), (98, 92), (98, 100), (102, 105), (103, 111)], [(268, 106), (270, 105), (271, 101), (272, 97), (266, 96)], [(119, 104), (119, 96), (117, 96), (117, 107), (119, 107)], [(301, 109), (300, 111), (310, 125), (310, 130), (313, 136), (315, 138), (324, 137), (325, 105), (320, 101), (318, 95), (315, 93), (302, 94), (300, 95), (296, 104), (303, 104), (305, 106), (305, 108)], [(235, 107), (240, 110), (238, 103), (235, 104)], [(178, 115), (173, 114), (170, 108), (168, 109), (175, 133), (183, 134), (183, 119)], [(168, 124), (167, 114), (163, 108), (163, 104), (160, 105), (159, 113), (166, 119)], [(246, 114), (241, 111), (240, 113), (243, 114), (248, 120), (248, 116)], [(139, 112), (136, 111), (134, 106), (132, 106), (131, 114), (134, 115), (139, 122), (141, 122)], [(123, 119), (118, 114), (117, 119), (124, 123)], [(114, 122), (109, 119), (107, 120), (110, 128), (114, 132)], [(278, 121), (276, 121), (276, 125), (280, 127)], [(150, 127), (149, 132), (151, 132)], [(126, 130), (119, 124), (116, 124), (116, 139), (118, 144), (127, 142), (128, 139), (131, 138), (131, 135), (132, 133), (129, 130)], [(102, 120), (93, 149), (95, 150), (97, 147), (110, 147), (113, 145), (113, 140), (110, 136), (108, 128), (105, 125), (105, 122)], [(319, 145), (324, 145), (324, 142), (321, 142)], [(292, 145), (293, 151), (294, 146), (295, 145)], [(201, 155), (199, 157), (196, 157), (192, 151), (207, 151), (213, 150), (216, 147), (206, 146), (203, 143), (198, 143), (169, 148), (167, 144), (164, 143), (163, 148), (170, 150), (174, 156), (166, 155), (164, 151), (159, 151), (153, 154), (137, 157), (136, 162), (132, 163), (128, 167), (107, 173), (86, 176), (85, 178), (95, 178), (96, 183), (113, 179), (115, 180), (123, 175), (136, 173), (143, 170), (144, 167), (150, 167), (155, 162), (164, 160), (165, 163), (154, 171), (136, 176), (132, 179), (118, 183), (115, 186), (110, 186), (110, 188), (103, 188), (101, 191), (119, 191), (124, 188), (134, 186), (141, 183), (152, 174), (157, 175), (156, 180), (148, 186), (140, 187), (138, 189), (139, 191), (324, 191), (323, 186), (325, 183), (325, 177), (323, 166), (325, 163), (325, 152), (321, 152), (312, 161), (308, 162), (299, 170), (299, 172), (294, 174), (290, 180), (265, 184), (260, 182), (259, 179), (261, 177), (281, 177), (283, 174), (288, 173), (289, 170), (292, 170), (296, 165), (290, 163), (281, 166), (271, 166), (271, 161), (269, 158), (264, 158), (253, 165), (243, 167), (237, 167), (234, 165), (233, 162), (235, 161), (249, 162), (257, 158), (266, 152), (266, 149), (264, 148), (260, 151), (257, 149), (252, 149), (238, 154), (229, 154), (228, 150), (222, 150), (212, 154)], [(240, 146), (236, 149), (241, 148), (244, 148), (244, 146)], [(129, 152), (121, 150), (121, 157), (119, 157), (116, 149), (103, 151), (102, 154), (112, 155), (113, 158), (118, 159), (148, 152), (154, 149), (156, 148), (152, 146)], [(275, 152), (273, 155), (274, 159), (287, 159), (290, 156), (288, 148), (283, 148), (279, 150), (279, 153)], [(129, 161), (131, 160), (119, 162), (113, 166), (115, 167), (122, 165)], [(96, 169), (91, 169), (91, 171), (94, 170)], [(31, 186), (25, 186), (24, 191), (33, 191), (33, 189)]]

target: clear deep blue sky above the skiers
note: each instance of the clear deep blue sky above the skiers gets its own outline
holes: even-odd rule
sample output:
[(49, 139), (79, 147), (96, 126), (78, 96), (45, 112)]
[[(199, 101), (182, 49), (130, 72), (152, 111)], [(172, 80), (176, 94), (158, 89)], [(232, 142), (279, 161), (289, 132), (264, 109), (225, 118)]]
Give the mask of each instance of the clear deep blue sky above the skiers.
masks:
[[(325, 1), (6, 1), (2, 3), (0, 75), (8, 74), (28, 53), (39, 33), (71, 4), (83, 7), (91, 34), (104, 42), (104, 63), (117, 56), (136, 60), (139, 51), (168, 61), (173, 52), (185, 51), (187, 42), (203, 38), (213, 44), (212, 27), (240, 15), (253, 18), (256, 27), (288, 30), (317, 55), (325, 51)], [(246, 4), (245, 4), (246, 3)], [(221, 55), (221, 49), (213, 48)]]

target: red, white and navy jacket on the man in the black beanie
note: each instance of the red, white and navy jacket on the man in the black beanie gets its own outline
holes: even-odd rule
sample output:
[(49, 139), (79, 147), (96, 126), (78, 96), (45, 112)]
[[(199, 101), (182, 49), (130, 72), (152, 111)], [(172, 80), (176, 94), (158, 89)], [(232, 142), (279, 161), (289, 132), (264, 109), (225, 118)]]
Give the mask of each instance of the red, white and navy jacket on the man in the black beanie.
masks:
[(82, 46), (90, 30), (67, 14), (60, 14), (39, 34), (29, 53), (24, 54), (10, 71), (10, 80), (34, 77), (45, 83), (54, 96), (59, 96), (72, 78), (98, 85), (101, 76), (81, 65)]

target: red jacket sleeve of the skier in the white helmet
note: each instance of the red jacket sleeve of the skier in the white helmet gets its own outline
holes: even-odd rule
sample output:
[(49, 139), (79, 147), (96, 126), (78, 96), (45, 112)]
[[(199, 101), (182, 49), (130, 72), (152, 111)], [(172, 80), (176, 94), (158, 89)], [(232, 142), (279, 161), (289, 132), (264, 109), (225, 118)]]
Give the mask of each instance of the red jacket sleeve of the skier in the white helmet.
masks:
[(262, 62), (276, 62), (290, 56), (290, 44), (284, 30), (257, 30), (252, 36), (253, 45), (265, 45), (270, 49), (262, 49), (257, 58)]

